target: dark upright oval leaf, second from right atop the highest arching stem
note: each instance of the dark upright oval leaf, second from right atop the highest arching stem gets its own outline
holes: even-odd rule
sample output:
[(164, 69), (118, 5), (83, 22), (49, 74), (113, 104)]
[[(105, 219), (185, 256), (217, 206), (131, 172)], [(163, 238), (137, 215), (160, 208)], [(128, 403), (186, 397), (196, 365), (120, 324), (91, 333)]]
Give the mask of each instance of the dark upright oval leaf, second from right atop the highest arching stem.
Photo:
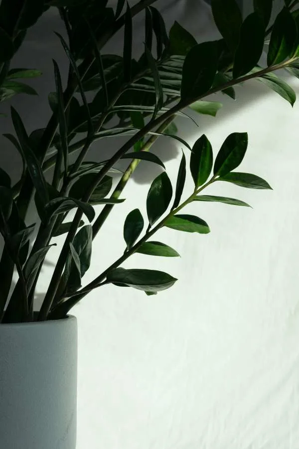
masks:
[(258, 12), (249, 14), (241, 26), (240, 42), (236, 49), (233, 77), (245, 75), (259, 62), (263, 52), (265, 26)]

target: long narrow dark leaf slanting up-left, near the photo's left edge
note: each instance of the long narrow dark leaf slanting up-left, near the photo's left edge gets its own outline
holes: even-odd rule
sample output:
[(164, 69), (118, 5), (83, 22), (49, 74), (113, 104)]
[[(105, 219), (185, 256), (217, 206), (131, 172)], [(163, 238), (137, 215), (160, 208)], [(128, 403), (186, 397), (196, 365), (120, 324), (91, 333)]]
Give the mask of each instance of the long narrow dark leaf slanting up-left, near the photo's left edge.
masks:
[(46, 186), (46, 181), (43, 175), (41, 165), (36, 158), (35, 154), (30, 148), (30, 141), (25, 131), (23, 122), (16, 112), (16, 110), (11, 106), (11, 119), (13, 126), (18, 137), (21, 149), (21, 156), (26, 161), (27, 169), (32, 180), (32, 183), (36, 189), (40, 201), (45, 204), (48, 202), (48, 189)]

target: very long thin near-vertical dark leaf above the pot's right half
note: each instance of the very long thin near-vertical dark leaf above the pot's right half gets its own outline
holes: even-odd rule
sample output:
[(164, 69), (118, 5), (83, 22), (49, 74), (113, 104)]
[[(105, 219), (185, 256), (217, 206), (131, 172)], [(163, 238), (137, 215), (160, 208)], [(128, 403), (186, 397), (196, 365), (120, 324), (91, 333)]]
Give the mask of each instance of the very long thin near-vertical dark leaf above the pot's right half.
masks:
[(56, 85), (56, 98), (58, 106), (58, 118), (59, 118), (59, 134), (61, 139), (61, 149), (64, 161), (64, 175), (67, 176), (68, 173), (68, 140), (67, 140), (67, 124), (65, 116), (65, 105), (63, 100), (63, 88), (60, 76), (60, 70), (57, 62), (53, 59), (54, 74), (55, 74), (55, 85)]

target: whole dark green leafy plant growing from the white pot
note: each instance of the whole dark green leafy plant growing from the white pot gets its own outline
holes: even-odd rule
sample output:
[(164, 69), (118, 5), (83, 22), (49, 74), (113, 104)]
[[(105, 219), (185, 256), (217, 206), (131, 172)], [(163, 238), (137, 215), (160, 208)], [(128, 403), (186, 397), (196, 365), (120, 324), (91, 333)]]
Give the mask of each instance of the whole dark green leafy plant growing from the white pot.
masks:
[[(203, 99), (220, 91), (234, 99), (234, 86), (250, 79), (266, 84), (293, 106), (295, 92), (274, 72), (284, 68), (299, 77), (299, 14), (294, 9), (297, 1), (286, 1), (274, 25), (269, 27), (272, 0), (254, 0), (254, 12), (244, 21), (235, 0), (213, 0), (213, 15), (223, 37), (200, 44), (177, 22), (167, 34), (163, 18), (152, 3), (154, 0), (141, 0), (130, 8), (125, 0), (119, 0), (114, 11), (107, 6), (107, 0), (51, 0), (40, 2), (38, 8), (31, 0), (1, 0), (1, 100), (19, 92), (35, 93), (15, 79), (38, 76), (38, 70), (10, 70), (10, 61), (27, 28), (49, 7), (57, 7), (64, 21), (68, 43), (59, 34), (57, 38), (69, 61), (67, 86), (63, 90), (59, 67), (53, 60), (56, 92), (49, 94), (52, 116), (47, 126), (28, 135), (21, 117), (11, 107), (15, 136), (4, 134), (19, 152), (23, 171), (20, 180), (11, 186), (9, 175), (0, 169), (0, 232), (4, 241), (0, 259), (2, 323), (34, 319), (36, 282), (51, 250), (53, 236), (66, 234), (38, 320), (64, 317), (88, 292), (109, 283), (131, 286), (148, 295), (170, 287), (176, 279), (167, 273), (128, 270), (121, 265), (134, 252), (177, 256), (175, 249), (151, 240), (163, 226), (208, 233), (209, 227), (201, 218), (180, 213), (189, 203), (216, 201), (248, 206), (232, 198), (202, 195), (212, 183), (271, 189), (256, 175), (234, 171), (247, 150), (246, 133), (230, 134), (213, 163), (208, 138), (202, 135), (191, 148), (177, 135), (174, 120), (177, 115), (188, 119), (187, 107), (199, 114), (215, 116), (221, 104)], [(145, 51), (135, 60), (132, 20), (141, 11), (145, 12)], [(104, 44), (121, 28), (124, 28), (123, 56), (102, 54)], [(265, 42), (268, 59), (267, 66), (262, 67), (259, 60)], [(86, 98), (88, 91), (95, 93), (91, 102)], [(80, 140), (78, 133), (84, 133)], [(115, 136), (129, 138), (109, 160), (98, 163), (88, 159), (94, 141), (101, 145), (101, 139)], [(147, 198), (148, 225), (141, 212), (133, 209), (124, 224), (125, 251), (96, 279), (82, 286), (82, 277), (90, 265), (92, 240), (112, 209), (123, 201), (120, 195), (139, 162), (147, 160), (164, 168), (149, 152), (159, 136), (176, 139), (186, 148), (175, 189), (165, 171), (153, 180)], [(189, 151), (194, 190), (185, 198), (184, 153)], [(76, 155), (72, 164), (71, 154)], [(124, 158), (131, 163), (110, 194), (109, 174), (115, 170), (116, 162)], [(50, 184), (44, 174), (51, 168)], [(32, 237), (35, 225), (25, 225), (31, 201), (40, 218), (35, 238)], [(94, 205), (103, 205), (98, 217)], [(74, 208), (75, 217), (67, 222), (67, 214)], [(84, 224), (83, 215), (90, 224)], [(18, 280), (9, 296), (14, 270)]]

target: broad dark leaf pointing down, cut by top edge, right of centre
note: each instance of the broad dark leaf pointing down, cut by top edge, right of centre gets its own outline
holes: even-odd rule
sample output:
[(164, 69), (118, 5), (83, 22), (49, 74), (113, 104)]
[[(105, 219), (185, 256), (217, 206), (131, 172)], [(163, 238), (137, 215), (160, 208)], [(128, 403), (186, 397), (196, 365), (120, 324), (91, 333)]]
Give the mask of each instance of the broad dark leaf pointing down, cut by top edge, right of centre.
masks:
[(234, 54), (242, 25), (242, 14), (236, 1), (212, 0), (212, 13), (217, 28)]

